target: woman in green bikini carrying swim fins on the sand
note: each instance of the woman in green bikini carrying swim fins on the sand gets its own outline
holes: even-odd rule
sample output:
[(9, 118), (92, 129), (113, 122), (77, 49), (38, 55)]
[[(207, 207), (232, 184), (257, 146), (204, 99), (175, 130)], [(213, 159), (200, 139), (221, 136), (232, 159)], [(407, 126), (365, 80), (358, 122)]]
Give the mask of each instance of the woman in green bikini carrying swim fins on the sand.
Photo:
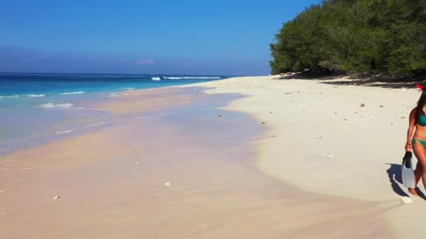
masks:
[[(413, 150), (415, 157), (418, 159), (414, 171), (415, 185), (417, 185), (420, 178), (422, 178), (423, 185), (426, 189), (426, 171), (424, 170), (424, 168), (426, 168), (426, 88), (421, 86), (418, 87), (422, 89), (422, 94), (418, 100), (417, 107), (411, 110), (410, 113), (405, 150)], [(415, 188), (410, 188), (408, 191), (418, 196)]]

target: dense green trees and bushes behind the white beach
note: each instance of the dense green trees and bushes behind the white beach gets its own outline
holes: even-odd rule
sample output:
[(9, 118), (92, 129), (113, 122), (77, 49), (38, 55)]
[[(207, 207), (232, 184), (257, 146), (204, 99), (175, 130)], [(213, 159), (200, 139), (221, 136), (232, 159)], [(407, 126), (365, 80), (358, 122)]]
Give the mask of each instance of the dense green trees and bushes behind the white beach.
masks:
[(426, 71), (426, 0), (329, 0), (283, 24), (271, 73), (313, 66), (348, 73)]

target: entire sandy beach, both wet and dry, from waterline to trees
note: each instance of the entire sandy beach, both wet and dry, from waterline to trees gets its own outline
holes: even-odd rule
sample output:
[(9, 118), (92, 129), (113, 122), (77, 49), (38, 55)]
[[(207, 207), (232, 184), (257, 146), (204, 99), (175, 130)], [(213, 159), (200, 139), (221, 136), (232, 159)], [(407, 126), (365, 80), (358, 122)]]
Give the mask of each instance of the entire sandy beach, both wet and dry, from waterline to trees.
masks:
[(422, 236), (425, 201), (397, 182), (418, 93), (247, 77), (123, 94), (93, 106), (119, 123), (0, 158), (2, 238)]

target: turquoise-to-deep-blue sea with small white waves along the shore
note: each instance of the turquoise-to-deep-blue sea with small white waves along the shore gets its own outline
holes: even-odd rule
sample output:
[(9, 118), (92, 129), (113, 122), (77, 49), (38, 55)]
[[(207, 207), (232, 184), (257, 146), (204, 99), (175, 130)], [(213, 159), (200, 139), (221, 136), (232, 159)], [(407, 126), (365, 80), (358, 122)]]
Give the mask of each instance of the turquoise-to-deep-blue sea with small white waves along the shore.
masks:
[(228, 78), (225, 75), (0, 73), (0, 155), (114, 121), (85, 108), (120, 92)]

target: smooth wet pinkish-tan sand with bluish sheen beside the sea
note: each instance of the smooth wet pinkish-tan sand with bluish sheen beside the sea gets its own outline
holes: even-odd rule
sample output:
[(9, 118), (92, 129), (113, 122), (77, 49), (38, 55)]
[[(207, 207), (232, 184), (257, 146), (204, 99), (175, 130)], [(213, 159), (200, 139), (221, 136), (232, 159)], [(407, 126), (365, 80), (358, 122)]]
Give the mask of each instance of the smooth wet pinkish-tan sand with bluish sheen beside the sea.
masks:
[(200, 92), (121, 96), (96, 106), (116, 124), (1, 157), (2, 238), (393, 238), (395, 203), (263, 173), (268, 125), (217, 109), (242, 96)]

